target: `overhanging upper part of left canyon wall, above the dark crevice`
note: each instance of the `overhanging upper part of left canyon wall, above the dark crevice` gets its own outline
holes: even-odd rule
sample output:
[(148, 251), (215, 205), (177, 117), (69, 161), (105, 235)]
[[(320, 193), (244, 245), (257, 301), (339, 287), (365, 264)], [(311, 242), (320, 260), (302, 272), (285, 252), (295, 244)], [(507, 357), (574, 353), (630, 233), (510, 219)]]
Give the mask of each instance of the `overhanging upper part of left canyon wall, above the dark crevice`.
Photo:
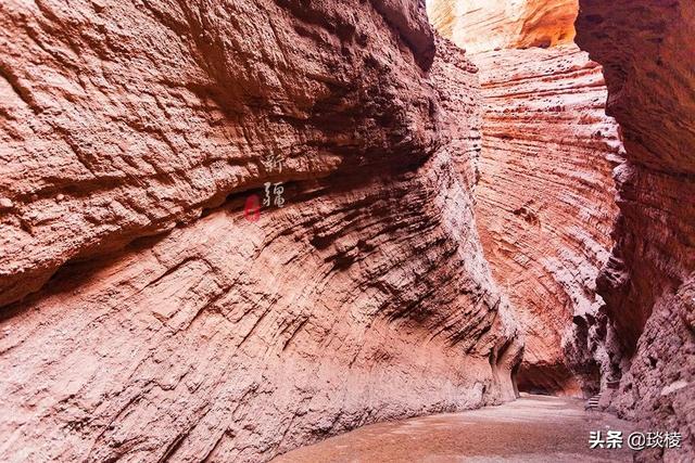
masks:
[(433, 38), (374, 3), (3, 2), (0, 305), (264, 180), (418, 163)]

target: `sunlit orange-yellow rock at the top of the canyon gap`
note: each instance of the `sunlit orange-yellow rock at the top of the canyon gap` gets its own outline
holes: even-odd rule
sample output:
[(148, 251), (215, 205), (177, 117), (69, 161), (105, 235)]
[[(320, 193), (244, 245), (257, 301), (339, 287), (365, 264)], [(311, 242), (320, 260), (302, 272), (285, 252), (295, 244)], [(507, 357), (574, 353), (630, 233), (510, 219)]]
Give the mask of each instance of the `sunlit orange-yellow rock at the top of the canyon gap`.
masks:
[(444, 37), (469, 52), (572, 43), (577, 0), (428, 0)]

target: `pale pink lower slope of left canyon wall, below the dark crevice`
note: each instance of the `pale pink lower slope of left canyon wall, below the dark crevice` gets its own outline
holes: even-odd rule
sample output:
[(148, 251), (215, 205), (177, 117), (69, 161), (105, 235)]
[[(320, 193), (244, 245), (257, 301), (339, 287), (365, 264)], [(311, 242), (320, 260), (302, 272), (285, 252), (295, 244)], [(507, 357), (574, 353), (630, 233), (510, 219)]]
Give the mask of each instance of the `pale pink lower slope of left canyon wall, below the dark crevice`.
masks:
[(2, 322), (0, 458), (256, 462), (513, 398), (467, 190), (451, 160), (420, 173), (298, 187), (255, 223), (225, 206), (63, 270)]

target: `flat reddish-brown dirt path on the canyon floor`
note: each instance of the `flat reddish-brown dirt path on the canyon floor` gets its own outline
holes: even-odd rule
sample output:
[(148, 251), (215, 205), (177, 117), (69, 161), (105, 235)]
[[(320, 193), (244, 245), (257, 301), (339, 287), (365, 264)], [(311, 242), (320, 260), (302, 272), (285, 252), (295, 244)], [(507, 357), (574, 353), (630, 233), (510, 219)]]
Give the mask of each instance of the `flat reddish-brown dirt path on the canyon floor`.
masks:
[[(590, 449), (592, 430), (622, 430), (621, 450)], [(527, 396), (501, 407), (365, 426), (274, 463), (631, 462), (630, 423), (577, 399)]]

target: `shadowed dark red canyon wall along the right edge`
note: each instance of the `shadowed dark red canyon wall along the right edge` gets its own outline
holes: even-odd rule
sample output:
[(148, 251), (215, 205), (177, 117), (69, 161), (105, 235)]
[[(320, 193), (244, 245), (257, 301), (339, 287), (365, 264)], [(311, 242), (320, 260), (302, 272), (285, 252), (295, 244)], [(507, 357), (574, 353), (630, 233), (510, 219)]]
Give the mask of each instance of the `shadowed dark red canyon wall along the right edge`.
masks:
[[(617, 245), (598, 292), (622, 377), (610, 406), (680, 430), (695, 454), (695, 3), (581, 0), (578, 43), (605, 67), (622, 127)], [(608, 332), (610, 334), (610, 331)], [(690, 455), (690, 458), (687, 456)]]

